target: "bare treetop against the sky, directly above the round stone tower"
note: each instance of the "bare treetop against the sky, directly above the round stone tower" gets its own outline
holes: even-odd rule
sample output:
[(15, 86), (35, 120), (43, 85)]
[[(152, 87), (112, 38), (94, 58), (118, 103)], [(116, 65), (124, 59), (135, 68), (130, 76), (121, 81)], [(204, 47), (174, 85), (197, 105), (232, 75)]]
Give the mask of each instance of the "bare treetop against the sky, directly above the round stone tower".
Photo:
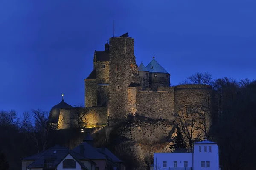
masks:
[[(209, 73), (195, 73), (187, 77), (190, 83), (198, 85), (212, 85), (213, 79), (212, 74)], [(188, 84), (188, 82), (186, 82)]]

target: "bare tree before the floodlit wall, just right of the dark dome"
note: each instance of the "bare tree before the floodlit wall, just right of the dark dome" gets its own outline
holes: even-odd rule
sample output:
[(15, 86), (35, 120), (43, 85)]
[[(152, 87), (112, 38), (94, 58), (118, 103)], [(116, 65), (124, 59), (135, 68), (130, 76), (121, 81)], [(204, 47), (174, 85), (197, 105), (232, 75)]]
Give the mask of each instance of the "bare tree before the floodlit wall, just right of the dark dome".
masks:
[(71, 126), (79, 129), (86, 127), (86, 116), (88, 112), (82, 105), (75, 105), (71, 112)]

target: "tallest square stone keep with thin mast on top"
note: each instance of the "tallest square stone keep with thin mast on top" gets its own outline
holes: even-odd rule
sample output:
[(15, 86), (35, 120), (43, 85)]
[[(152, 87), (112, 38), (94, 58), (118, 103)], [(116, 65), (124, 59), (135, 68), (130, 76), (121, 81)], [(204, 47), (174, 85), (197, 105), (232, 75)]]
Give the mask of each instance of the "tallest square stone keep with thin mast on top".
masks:
[(127, 118), (128, 86), (140, 83), (134, 56), (134, 39), (128, 33), (110, 38), (109, 59), (109, 126)]

